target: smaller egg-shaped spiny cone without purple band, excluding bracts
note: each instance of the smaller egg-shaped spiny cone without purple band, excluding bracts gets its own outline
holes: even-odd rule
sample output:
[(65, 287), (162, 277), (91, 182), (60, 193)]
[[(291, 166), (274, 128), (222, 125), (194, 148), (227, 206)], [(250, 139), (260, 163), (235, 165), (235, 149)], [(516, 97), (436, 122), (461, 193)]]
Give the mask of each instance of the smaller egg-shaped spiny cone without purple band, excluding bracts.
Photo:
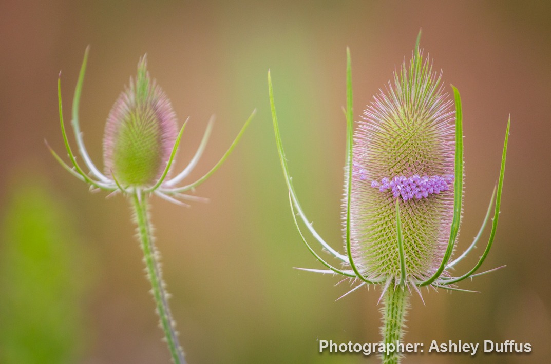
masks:
[(107, 117), (105, 174), (123, 186), (153, 185), (163, 174), (177, 135), (176, 114), (163, 90), (150, 79), (144, 56), (136, 79), (130, 79)]

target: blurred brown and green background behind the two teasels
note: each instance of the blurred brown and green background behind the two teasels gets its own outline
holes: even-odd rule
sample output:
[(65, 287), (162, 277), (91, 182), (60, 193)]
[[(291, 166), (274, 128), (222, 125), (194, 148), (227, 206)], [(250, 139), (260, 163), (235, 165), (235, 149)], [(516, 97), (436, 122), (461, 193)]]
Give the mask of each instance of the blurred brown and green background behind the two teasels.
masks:
[[(459, 249), (482, 223), (498, 178), (507, 117), (509, 156), (498, 233), (483, 268), (461, 288), (424, 291), (409, 343), (532, 344), (525, 355), (411, 355), (407, 363), (541, 363), (551, 355), (551, 3), (516, 1), (14, 1), (0, 3), (0, 362), (168, 363), (128, 201), (90, 194), (52, 158), (84, 49), (84, 140), (102, 166), (110, 108), (140, 56), (190, 116), (177, 169), (217, 122), (190, 181), (206, 173), (254, 108), (234, 153), (183, 208), (152, 198), (164, 277), (188, 362), (358, 363), (318, 353), (317, 340), (379, 340), (380, 288), (350, 287), (321, 268), (296, 232), (269, 113), (271, 69), (291, 175), (318, 232), (342, 249), (345, 47), (354, 113), (409, 59), (415, 37), (461, 91), (466, 161)], [(448, 87), (450, 91), (450, 87)], [(73, 137), (71, 135), (71, 142)], [(74, 142), (73, 142), (74, 145)], [(537, 183), (536, 183), (537, 182)], [(539, 187), (538, 187), (539, 186)], [(457, 266), (462, 273), (481, 248)]]

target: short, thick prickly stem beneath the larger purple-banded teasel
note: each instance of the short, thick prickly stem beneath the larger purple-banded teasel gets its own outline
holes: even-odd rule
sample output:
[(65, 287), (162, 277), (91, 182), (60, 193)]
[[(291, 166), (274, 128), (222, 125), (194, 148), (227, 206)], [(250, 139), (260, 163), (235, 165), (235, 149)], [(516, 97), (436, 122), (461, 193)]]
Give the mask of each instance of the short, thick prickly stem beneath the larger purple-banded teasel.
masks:
[[(399, 285), (395, 287), (392, 283), (385, 293), (385, 307), (383, 308), (383, 326), (381, 334), (385, 347), (387, 344), (402, 343), (403, 327), (408, 309), (408, 290)], [(399, 364), (402, 354), (394, 351), (382, 354), (383, 364)]]

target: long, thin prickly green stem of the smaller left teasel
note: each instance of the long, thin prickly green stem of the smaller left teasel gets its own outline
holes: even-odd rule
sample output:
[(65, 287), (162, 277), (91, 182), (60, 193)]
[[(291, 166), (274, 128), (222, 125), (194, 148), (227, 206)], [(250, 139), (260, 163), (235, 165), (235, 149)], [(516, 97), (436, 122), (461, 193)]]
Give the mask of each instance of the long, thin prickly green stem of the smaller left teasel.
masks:
[(152, 294), (155, 299), (156, 312), (159, 315), (161, 328), (165, 332), (166, 343), (169, 346), (170, 355), (176, 364), (185, 364), (183, 350), (178, 342), (178, 333), (176, 332), (176, 323), (170, 313), (168, 294), (165, 290), (165, 283), (161, 274), (161, 268), (158, 261), (158, 253), (153, 241), (152, 227), (149, 221), (147, 211), (147, 201), (143, 191), (136, 191), (132, 197), (134, 212), (136, 213), (136, 223), (138, 224), (138, 233), (142, 247), (145, 266), (147, 267), (147, 277), (152, 286)]

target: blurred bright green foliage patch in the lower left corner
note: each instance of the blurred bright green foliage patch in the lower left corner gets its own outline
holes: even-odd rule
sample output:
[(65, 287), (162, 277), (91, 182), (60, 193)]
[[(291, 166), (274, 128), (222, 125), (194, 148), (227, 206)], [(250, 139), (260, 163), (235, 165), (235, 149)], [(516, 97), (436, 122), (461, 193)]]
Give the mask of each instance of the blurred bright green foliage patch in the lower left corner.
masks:
[(0, 362), (74, 363), (93, 275), (68, 211), (36, 181), (12, 189), (0, 246)]

